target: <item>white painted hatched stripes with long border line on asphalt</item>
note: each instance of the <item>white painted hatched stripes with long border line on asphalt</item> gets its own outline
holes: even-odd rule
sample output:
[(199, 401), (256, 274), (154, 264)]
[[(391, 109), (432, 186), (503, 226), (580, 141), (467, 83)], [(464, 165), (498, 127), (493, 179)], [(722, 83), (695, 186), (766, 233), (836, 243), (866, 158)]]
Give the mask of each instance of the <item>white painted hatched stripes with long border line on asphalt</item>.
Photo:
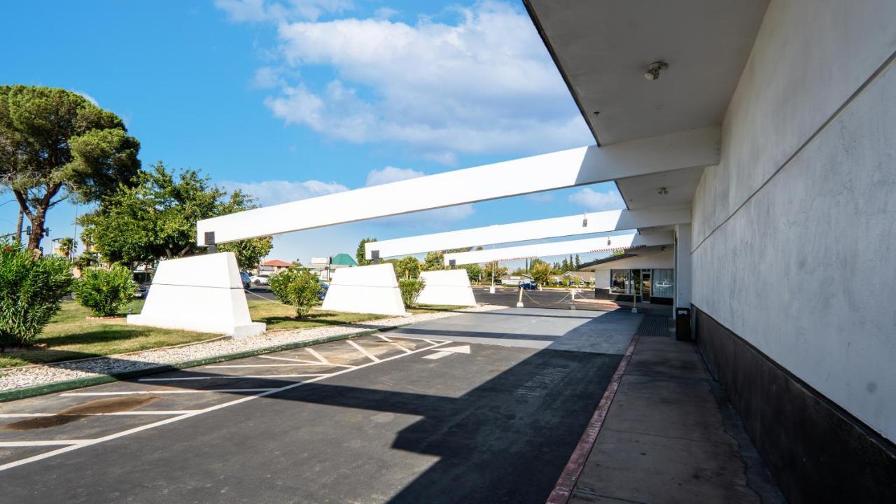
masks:
[[(398, 339), (395, 336), (393, 336), (393, 338)], [(402, 338), (402, 339), (404, 339), (404, 338)], [(332, 343), (337, 343), (337, 342), (332, 342)], [(143, 430), (151, 430), (156, 427), (168, 425), (169, 423), (174, 423), (176, 421), (182, 421), (182, 420), (186, 420), (189, 418), (193, 418), (193, 417), (201, 415), (203, 413), (211, 413), (214, 411), (218, 411), (220, 409), (228, 408), (230, 406), (246, 403), (247, 401), (252, 401), (259, 397), (265, 397), (268, 395), (277, 394), (279, 392), (290, 390), (290, 389), (296, 388), (296, 387), (301, 387), (303, 385), (314, 383), (314, 382), (320, 381), (325, 378), (330, 378), (330, 377), (338, 376), (341, 374), (349, 373), (349, 372), (355, 371), (357, 369), (364, 369), (369, 366), (381, 364), (386, 361), (393, 361), (396, 359), (401, 359), (402, 357), (405, 357), (405, 356), (408, 356), (408, 355), (411, 355), (414, 353), (435, 350), (438, 347), (443, 346), (444, 344), (448, 344), (448, 343), (452, 343), (452, 342), (450, 342), (450, 341), (428, 342), (430, 344), (427, 346), (415, 348), (414, 350), (409, 351), (407, 348), (401, 347), (400, 344), (397, 344), (394, 341), (391, 341), (388, 343), (392, 343), (395, 346), (399, 346), (403, 352), (398, 353), (396, 355), (392, 355), (390, 357), (384, 357), (383, 355), (380, 355), (380, 357), (377, 357), (375, 355), (375, 353), (377, 353), (377, 350), (380, 350), (380, 349), (374, 350), (374, 352), (370, 352), (369, 346), (373, 346), (373, 345), (371, 345), (371, 343), (376, 343), (378, 345), (384, 346), (382, 341), (378, 341), (378, 340), (370, 341), (370, 340), (358, 339), (355, 342), (349, 341), (349, 343), (353, 343), (353, 344), (351, 344), (351, 346), (354, 347), (355, 350), (358, 350), (358, 352), (364, 353), (366, 355), (366, 357), (369, 359), (369, 361), (366, 361), (365, 363), (361, 363), (361, 364), (354, 365), (354, 366), (351, 366), (348, 364), (334, 364), (331, 361), (329, 361), (327, 359), (327, 357), (325, 357), (321, 352), (316, 352), (310, 348), (306, 348), (305, 350), (309, 354), (313, 355), (315, 357), (315, 359), (318, 360), (317, 362), (310, 362), (311, 364), (314, 364), (317, 366), (322, 366), (322, 365), (332, 366), (334, 368), (342, 368), (342, 369), (334, 370), (331, 373), (325, 373), (325, 374), (246, 375), (246, 376), (222, 375), (222, 376), (213, 376), (213, 377), (141, 378), (138, 380), (140, 382), (168, 382), (168, 383), (170, 383), (170, 382), (175, 382), (178, 380), (185, 380), (185, 379), (200, 379), (200, 380), (202, 380), (202, 379), (212, 379), (212, 378), (243, 378), (243, 379), (255, 379), (255, 380), (270, 380), (273, 378), (308, 378), (306, 380), (289, 382), (289, 384), (284, 385), (282, 387), (206, 388), (206, 389), (174, 389), (174, 390), (172, 390), (172, 389), (168, 388), (168, 387), (173, 387), (172, 385), (159, 383), (158, 385), (153, 384), (153, 387), (166, 387), (166, 388), (160, 388), (160, 389), (159, 388), (143, 388), (143, 389), (139, 389), (139, 390), (108, 390), (107, 389), (107, 390), (100, 390), (100, 391), (95, 391), (95, 392), (83, 391), (83, 392), (65, 392), (65, 393), (58, 394), (55, 397), (95, 397), (95, 396), (128, 396), (128, 395), (132, 395), (132, 396), (133, 395), (183, 396), (183, 395), (202, 395), (205, 393), (240, 394), (240, 395), (247, 394), (247, 395), (240, 396), (237, 399), (227, 401), (224, 403), (212, 404), (212, 405), (204, 407), (202, 409), (128, 411), (128, 412), (112, 412), (112, 413), (96, 413), (96, 414), (85, 413), (83, 415), (71, 415), (71, 416), (79, 416), (79, 417), (80, 416), (90, 417), (90, 418), (95, 418), (95, 419), (104, 418), (104, 417), (111, 418), (111, 417), (116, 417), (116, 416), (118, 418), (122, 418), (122, 417), (126, 418), (127, 415), (134, 415), (134, 417), (139, 417), (140, 415), (146, 415), (147, 417), (150, 417), (151, 415), (157, 415), (157, 416), (167, 415), (168, 418), (160, 419), (158, 421), (151, 421), (150, 423), (144, 423), (142, 425), (137, 425), (137, 426), (134, 426), (134, 427), (126, 429), (126, 430), (116, 431), (114, 433), (111, 433), (111, 434), (108, 434), (105, 436), (100, 436), (97, 438), (92, 438), (92, 439), (10, 439), (10, 440), (0, 441), (0, 448), (27, 448), (27, 447), (49, 447), (49, 448), (51, 448), (48, 451), (41, 452), (37, 455), (26, 456), (24, 458), (14, 460), (12, 462), (0, 464), (0, 472), (5, 471), (7, 469), (12, 469), (13, 467), (18, 467), (20, 465), (27, 465), (27, 464), (31, 464), (34, 462), (39, 462), (40, 460), (43, 460), (43, 459), (46, 459), (46, 458), (49, 458), (52, 456), (62, 455), (62, 454), (68, 453), (68, 452), (76, 450), (76, 449), (90, 447), (93, 445), (98, 445), (100, 443), (104, 443), (104, 442), (111, 441), (114, 439), (124, 438), (125, 436), (129, 436), (136, 432), (142, 432)], [(324, 347), (324, 345), (327, 345), (327, 344), (329, 344), (329, 343), (323, 343), (323, 345), (321, 347), (319, 347), (319, 350), (323, 351), (324, 348), (326, 348), (327, 350), (332, 350), (332, 349), (334, 349), (334, 347), (338, 348), (337, 345), (333, 345), (330, 347)], [(342, 344), (344, 344), (344, 343), (342, 343)], [(412, 346), (416, 346), (416, 344), (417, 344), (416, 342), (412, 343)], [(368, 348), (365, 348), (364, 345), (368, 345)], [(392, 347), (390, 347), (390, 348), (392, 348)], [(360, 349), (363, 349), (363, 351)], [(341, 352), (341, 351), (339, 351), (339, 352)], [(326, 353), (326, 352), (323, 352), (323, 353)], [(297, 360), (289, 359), (286, 357), (279, 357), (279, 356), (275, 356), (275, 355), (259, 355), (257, 357), (263, 357), (263, 358), (274, 359), (274, 360), (283, 360), (283, 361), (297, 361)], [(298, 363), (303, 363), (303, 362), (298, 362)], [(290, 363), (290, 364), (277, 363), (277, 364), (272, 364), (272, 365), (291, 366), (293, 364), (292, 363)], [(224, 366), (231, 366), (231, 367), (246, 366), (246, 368), (250, 368), (250, 367), (254, 368), (254, 367), (258, 367), (258, 366), (267, 366), (267, 365), (264, 365), (264, 364), (219, 365), (219, 367), (224, 367)], [(203, 368), (208, 368), (208, 367), (211, 367), (211, 366), (205, 366)], [(252, 368), (246, 369), (246, 370), (251, 372)], [(197, 368), (194, 370), (201, 371), (202, 368)], [(108, 384), (108, 385), (109, 386), (112, 386), (112, 385), (121, 386), (126, 383), (136, 384), (136, 382), (117, 382), (116, 384)], [(146, 384), (146, 385), (149, 386), (150, 384)], [(106, 388), (107, 386), (98, 386), (98, 387)], [(33, 404), (33, 403), (27, 403), (27, 404)], [(61, 414), (60, 413), (3, 413), (3, 414), (5, 416), (0, 417), (0, 418), (10, 418), (10, 419), (22, 418), (22, 419), (26, 419), (26, 420), (28, 417), (32, 417), (35, 420), (37, 420), (40, 417), (65, 416), (65, 413), (61, 413)], [(82, 421), (87, 421), (87, 418), (82, 419)], [(119, 426), (119, 429), (120, 429), (120, 426)], [(31, 432), (33, 435), (34, 431), (31, 431)], [(57, 433), (57, 435), (58, 435), (58, 433)], [(60, 448), (53, 449), (53, 447), (60, 447)]]

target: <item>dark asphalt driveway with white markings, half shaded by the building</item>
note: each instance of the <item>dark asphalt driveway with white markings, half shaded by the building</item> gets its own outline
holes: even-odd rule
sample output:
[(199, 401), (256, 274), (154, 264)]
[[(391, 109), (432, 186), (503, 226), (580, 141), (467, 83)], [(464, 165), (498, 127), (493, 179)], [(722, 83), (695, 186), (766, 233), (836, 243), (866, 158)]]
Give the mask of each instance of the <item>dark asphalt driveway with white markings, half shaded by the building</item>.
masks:
[(0, 404), (0, 495), (544, 502), (642, 317), (558, 313), (465, 314)]

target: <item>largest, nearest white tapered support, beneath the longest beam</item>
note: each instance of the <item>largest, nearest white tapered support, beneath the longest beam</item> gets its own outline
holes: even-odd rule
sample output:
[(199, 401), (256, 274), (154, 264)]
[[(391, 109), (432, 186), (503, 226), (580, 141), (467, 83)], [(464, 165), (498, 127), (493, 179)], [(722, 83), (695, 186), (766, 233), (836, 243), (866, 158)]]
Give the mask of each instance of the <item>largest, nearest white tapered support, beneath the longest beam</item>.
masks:
[(127, 323), (234, 337), (265, 330), (249, 318), (233, 252), (161, 261), (140, 314)]

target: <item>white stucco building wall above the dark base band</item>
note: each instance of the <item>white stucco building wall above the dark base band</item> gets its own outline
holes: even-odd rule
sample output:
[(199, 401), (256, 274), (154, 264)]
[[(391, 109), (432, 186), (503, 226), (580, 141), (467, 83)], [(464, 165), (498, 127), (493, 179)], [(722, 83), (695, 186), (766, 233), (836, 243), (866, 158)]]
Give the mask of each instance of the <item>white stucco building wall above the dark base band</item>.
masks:
[(695, 306), (896, 440), (894, 20), (892, 0), (771, 2), (692, 259)]

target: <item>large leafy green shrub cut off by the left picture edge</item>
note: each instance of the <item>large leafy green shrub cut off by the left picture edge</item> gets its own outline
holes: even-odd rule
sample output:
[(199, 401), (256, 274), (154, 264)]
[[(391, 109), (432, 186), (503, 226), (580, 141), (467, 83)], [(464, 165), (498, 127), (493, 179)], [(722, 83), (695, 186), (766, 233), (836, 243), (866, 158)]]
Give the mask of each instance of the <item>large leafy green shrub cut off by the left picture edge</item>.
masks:
[(36, 256), (0, 243), (0, 345), (34, 343), (72, 291), (73, 281), (62, 257)]

